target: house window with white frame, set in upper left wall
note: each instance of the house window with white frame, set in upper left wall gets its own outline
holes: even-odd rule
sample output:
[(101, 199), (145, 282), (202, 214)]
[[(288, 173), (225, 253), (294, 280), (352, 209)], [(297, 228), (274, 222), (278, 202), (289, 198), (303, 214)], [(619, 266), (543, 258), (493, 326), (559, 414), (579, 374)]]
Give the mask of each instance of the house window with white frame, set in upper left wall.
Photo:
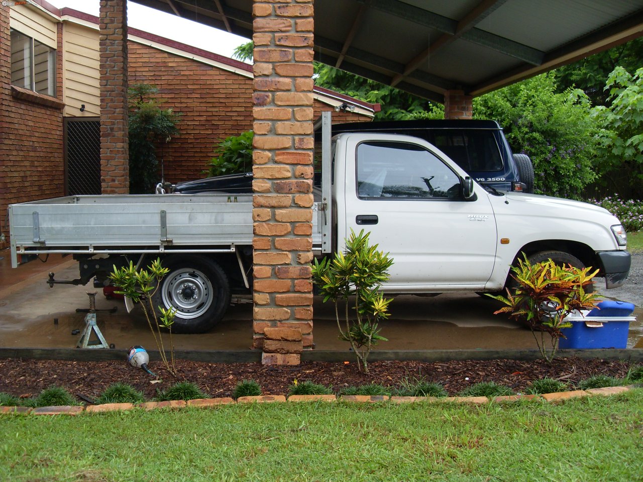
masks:
[(11, 83), (56, 96), (56, 51), (38, 40), (11, 31)]

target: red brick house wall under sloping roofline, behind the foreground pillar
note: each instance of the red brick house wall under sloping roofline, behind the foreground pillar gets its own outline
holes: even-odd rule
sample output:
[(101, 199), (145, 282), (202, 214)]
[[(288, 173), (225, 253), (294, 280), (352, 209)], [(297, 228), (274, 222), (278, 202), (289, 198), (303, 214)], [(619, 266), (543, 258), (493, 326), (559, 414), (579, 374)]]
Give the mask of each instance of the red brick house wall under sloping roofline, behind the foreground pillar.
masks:
[[(163, 107), (181, 112), (181, 134), (158, 150), (165, 179), (199, 179), (215, 146), (228, 136), (252, 129), (252, 82), (237, 73), (129, 42), (129, 84), (152, 84)], [(315, 101), (314, 116), (332, 106)], [(354, 112), (334, 112), (335, 121), (370, 121)]]

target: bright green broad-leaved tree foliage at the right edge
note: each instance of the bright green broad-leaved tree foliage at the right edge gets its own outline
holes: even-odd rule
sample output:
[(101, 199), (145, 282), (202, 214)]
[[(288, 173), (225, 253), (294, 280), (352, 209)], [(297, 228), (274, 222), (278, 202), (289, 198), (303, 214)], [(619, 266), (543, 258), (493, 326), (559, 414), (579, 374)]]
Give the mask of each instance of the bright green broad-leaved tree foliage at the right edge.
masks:
[(601, 128), (596, 168), (611, 192), (643, 197), (643, 68), (631, 75), (623, 67), (610, 74), (605, 90), (609, 106), (595, 107), (592, 119)]

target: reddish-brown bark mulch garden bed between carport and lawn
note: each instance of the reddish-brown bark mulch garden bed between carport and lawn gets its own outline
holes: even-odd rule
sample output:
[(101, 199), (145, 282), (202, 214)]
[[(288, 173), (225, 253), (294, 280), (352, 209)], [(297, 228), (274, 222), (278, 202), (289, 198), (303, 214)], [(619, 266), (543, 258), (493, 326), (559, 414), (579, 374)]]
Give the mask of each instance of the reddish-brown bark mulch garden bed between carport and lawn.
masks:
[(397, 386), (404, 380), (426, 379), (439, 382), (449, 395), (477, 382), (493, 381), (514, 391), (527, 388), (532, 380), (543, 377), (561, 379), (575, 384), (592, 375), (624, 377), (628, 362), (602, 359), (562, 358), (553, 364), (545, 361), (467, 360), (446, 362), (374, 361), (370, 373), (359, 373), (356, 362), (303, 362), (294, 367), (270, 367), (260, 363), (208, 363), (177, 361), (178, 376), (167, 373), (160, 362), (150, 368), (158, 373), (160, 382), (127, 361), (60, 361), (0, 360), (0, 392), (19, 397), (38, 395), (52, 385), (62, 386), (80, 400), (91, 400), (114, 382), (130, 384), (152, 398), (157, 389), (166, 389), (178, 381), (198, 384), (211, 397), (230, 397), (241, 380), (255, 380), (264, 395), (286, 395), (294, 380), (332, 386), (334, 391), (348, 386), (376, 383)]

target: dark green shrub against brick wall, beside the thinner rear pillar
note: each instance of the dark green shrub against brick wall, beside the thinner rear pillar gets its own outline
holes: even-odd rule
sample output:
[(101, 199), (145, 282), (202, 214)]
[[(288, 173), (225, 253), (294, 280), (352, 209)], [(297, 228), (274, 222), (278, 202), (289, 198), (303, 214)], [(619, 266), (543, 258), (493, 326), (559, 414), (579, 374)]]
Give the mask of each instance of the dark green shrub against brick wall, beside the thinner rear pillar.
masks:
[(129, 190), (132, 194), (154, 192), (158, 183), (156, 148), (179, 134), (180, 114), (161, 109), (154, 85), (134, 84), (129, 88)]

